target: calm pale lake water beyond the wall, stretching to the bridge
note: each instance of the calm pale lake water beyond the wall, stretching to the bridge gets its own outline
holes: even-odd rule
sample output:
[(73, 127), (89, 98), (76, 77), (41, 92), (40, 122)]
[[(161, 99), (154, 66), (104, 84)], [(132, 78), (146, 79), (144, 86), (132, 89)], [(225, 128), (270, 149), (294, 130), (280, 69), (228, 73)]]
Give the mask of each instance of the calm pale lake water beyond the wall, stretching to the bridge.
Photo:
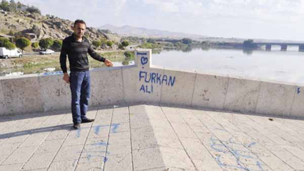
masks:
[(273, 47), (271, 52), (215, 49), (163, 51), (153, 54), (152, 63), (174, 69), (304, 84), (304, 53), (297, 51), (298, 47), (288, 47), (287, 52), (281, 52), (280, 47)]

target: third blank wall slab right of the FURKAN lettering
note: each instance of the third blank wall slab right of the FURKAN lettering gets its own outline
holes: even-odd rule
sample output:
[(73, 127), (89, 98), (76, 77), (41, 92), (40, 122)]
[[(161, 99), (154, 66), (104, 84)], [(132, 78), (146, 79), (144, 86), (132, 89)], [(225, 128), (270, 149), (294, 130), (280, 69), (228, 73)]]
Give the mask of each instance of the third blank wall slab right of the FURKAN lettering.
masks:
[(256, 113), (290, 116), (295, 96), (294, 84), (261, 82)]

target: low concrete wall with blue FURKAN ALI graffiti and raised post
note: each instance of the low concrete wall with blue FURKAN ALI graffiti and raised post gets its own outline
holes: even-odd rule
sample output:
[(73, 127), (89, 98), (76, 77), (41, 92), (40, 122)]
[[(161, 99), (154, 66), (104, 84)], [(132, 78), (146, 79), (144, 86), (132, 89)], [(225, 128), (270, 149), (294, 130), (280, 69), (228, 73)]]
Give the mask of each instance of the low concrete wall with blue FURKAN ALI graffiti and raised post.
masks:
[[(135, 51), (135, 65), (92, 69), (91, 106), (161, 103), (304, 118), (304, 86), (181, 71), (151, 64), (151, 51)], [(70, 108), (62, 73), (0, 78), (0, 115)]]

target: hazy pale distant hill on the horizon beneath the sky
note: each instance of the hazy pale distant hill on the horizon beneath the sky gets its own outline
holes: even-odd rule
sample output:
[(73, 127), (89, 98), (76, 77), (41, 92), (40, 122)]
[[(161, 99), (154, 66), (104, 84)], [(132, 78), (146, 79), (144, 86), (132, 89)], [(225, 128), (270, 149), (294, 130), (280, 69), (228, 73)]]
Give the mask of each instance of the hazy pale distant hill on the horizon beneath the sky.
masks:
[(122, 36), (143, 36), (143, 37), (174, 37), (174, 38), (199, 38), (205, 37), (203, 35), (198, 34), (186, 34), (180, 32), (170, 32), (165, 30), (157, 30), (157, 29), (147, 29), (141, 27), (132, 27), (129, 25), (125, 25), (122, 27), (118, 27), (115, 25), (106, 24), (101, 27), (98, 27), (102, 30), (110, 30), (113, 33), (120, 34)]

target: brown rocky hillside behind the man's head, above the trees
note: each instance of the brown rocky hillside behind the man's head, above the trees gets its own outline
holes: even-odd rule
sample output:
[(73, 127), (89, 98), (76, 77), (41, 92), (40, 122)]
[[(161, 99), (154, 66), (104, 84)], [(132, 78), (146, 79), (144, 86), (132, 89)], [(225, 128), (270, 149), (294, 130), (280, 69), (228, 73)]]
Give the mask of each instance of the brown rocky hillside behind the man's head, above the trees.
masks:
[[(54, 38), (63, 39), (72, 33), (72, 21), (61, 19), (54, 16), (43, 16), (28, 12), (7, 12), (0, 13), (0, 33), (24, 35), (25, 33), (34, 33), (37, 39)], [(100, 29), (88, 27), (85, 36), (92, 40), (106, 38), (119, 41), (120, 36), (112, 33), (105, 33)]]

